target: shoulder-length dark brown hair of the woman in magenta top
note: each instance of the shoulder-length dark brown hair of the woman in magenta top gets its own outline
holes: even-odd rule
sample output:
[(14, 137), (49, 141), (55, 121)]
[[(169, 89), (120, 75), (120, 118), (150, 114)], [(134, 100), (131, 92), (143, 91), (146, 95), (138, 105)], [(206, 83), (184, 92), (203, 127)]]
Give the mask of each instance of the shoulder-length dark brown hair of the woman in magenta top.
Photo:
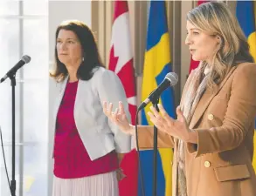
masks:
[(77, 71), (77, 78), (81, 80), (89, 80), (93, 77), (93, 68), (104, 67), (100, 59), (100, 54), (98, 47), (93, 37), (92, 30), (86, 26), (86, 24), (77, 21), (70, 20), (64, 21), (59, 24), (55, 33), (55, 69), (50, 72), (50, 76), (55, 78), (57, 81), (62, 81), (67, 76), (67, 70), (65, 64), (59, 61), (57, 53), (57, 38), (59, 35), (59, 30), (72, 30), (78, 37), (82, 50), (84, 60), (80, 64)]

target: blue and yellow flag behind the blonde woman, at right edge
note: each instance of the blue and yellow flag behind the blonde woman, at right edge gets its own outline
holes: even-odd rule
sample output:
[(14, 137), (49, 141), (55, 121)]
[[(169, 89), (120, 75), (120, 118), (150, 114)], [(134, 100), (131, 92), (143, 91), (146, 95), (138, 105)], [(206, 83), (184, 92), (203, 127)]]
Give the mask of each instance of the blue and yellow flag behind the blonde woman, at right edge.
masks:
[[(256, 2), (255, 1), (238, 1), (237, 17), (244, 33), (246, 34), (248, 43), (250, 44), (250, 52), (256, 62)], [(256, 92), (255, 92), (256, 93)], [(255, 118), (255, 134), (254, 134), (254, 156), (253, 167), (256, 171), (256, 118)]]

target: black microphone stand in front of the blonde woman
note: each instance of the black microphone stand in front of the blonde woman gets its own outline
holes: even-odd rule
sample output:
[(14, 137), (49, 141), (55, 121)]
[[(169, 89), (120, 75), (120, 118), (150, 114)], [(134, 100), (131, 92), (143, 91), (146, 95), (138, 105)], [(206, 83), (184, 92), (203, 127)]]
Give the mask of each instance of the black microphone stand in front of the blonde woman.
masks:
[[(159, 103), (159, 97), (154, 97), (151, 100), (152, 104), (156, 108), (156, 111), (159, 112), (158, 103)], [(157, 190), (157, 128), (156, 125), (154, 125), (154, 159), (153, 159), (153, 193), (152, 196), (156, 196), (156, 190)]]

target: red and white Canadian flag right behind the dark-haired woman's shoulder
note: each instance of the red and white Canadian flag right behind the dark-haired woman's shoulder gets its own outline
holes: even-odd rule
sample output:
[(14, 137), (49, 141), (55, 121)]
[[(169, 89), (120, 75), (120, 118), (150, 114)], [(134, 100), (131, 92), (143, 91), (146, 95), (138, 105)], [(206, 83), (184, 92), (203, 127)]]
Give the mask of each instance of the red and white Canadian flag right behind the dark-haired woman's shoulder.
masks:
[[(132, 124), (134, 125), (137, 107), (135, 71), (129, 25), (128, 2), (116, 0), (114, 2), (114, 20), (108, 69), (114, 71), (121, 79), (121, 83), (128, 98)], [(137, 195), (137, 160), (137, 152), (133, 150), (126, 154), (121, 161), (121, 168), (127, 177), (119, 182), (120, 196)]]

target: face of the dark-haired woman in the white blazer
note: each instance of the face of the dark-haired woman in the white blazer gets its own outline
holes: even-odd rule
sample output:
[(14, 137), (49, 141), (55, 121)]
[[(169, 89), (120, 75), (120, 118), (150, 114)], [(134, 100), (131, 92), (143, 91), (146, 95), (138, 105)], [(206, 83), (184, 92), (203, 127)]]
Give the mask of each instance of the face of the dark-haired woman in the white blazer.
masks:
[(72, 30), (59, 30), (57, 37), (57, 53), (59, 61), (68, 66), (80, 66), (82, 61), (82, 47), (76, 34)]

